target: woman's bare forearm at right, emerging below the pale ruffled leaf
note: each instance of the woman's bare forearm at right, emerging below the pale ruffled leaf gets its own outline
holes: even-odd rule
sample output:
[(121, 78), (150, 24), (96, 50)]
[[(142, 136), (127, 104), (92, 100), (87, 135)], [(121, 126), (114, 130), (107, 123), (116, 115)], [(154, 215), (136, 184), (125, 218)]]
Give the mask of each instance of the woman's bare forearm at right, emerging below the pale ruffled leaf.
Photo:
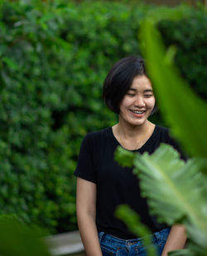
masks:
[(171, 227), (171, 232), (166, 240), (165, 247), (161, 256), (166, 256), (168, 252), (177, 249), (183, 249), (186, 242), (185, 227), (181, 224), (175, 224)]

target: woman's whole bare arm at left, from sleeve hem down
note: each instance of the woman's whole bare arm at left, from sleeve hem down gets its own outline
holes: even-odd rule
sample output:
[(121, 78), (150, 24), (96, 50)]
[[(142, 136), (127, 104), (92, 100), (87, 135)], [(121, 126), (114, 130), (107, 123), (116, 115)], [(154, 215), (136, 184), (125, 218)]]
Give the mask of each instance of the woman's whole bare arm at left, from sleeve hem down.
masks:
[(96, 185), (93, 182), (77, 179), (76, 209), (79, 234), (87, 256), (102, 256), (95, 224)]

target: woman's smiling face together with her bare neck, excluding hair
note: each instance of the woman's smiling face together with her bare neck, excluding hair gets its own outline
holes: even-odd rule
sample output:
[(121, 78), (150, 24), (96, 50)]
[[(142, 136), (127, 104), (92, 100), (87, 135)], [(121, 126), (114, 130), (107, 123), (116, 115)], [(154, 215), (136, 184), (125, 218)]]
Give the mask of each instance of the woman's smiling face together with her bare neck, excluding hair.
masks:
[[(147, 121), (155, 107), (155, 96), (153, 95), (151, 81), (147, 76), (135, 76), (132, 86), (123, 97), (119, 106), (119, 122), (113, 126), (113, 135), (120, 142), (123, 148), (128, 150), (137, 150), (152, 135), (155, 125)], [(123, 127), (135, 131), (135, 136), (127, 138), (127, 133)], [(137, 129), (144, 130), (143, 133), (137, 133)], [(131, 130), (132, 130), (131, 129)]]

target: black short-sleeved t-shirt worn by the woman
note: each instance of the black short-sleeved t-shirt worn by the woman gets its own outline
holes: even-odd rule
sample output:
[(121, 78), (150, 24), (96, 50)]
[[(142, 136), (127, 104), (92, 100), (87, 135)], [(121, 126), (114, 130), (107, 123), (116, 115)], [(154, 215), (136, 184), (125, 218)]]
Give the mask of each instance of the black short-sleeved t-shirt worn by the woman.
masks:
[[(160, 143), (172, 145), (176, 142), (165, 127), (155, 126), (151, 137), (137, 151), (152, 154)], [(113, 159), (114, 151), (119, 145), (113, 135), (112, 127), (94, 131), (84, 137), (79, 151), (75, 175), (97, 185), (96, 224), (98, 231), (112, 234), (120, 239), (135, 239), (123, 222), (114, 216), (119, 204), (128, 204), (139, 214), (142, 223), (152, 232), (166, 227), (158, 224), (156, 218), (149, 214), (147, 199), (142, 198), (139, 180), (132, 173), (132, 168), (123, 168)]]

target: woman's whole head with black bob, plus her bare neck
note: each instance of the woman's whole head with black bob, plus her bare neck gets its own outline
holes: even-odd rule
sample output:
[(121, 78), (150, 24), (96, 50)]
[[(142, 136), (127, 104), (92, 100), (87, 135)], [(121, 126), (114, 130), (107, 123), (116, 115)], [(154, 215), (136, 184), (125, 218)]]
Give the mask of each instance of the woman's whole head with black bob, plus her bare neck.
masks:
[(141, 57), (126, 57), (113, 66), (103, 85), (103, 98), (118, 113), (113, 135), (119, 144), (127, 150), (144, 145), (155, 129), (147, 119), (156, 111), (156, 100)]

